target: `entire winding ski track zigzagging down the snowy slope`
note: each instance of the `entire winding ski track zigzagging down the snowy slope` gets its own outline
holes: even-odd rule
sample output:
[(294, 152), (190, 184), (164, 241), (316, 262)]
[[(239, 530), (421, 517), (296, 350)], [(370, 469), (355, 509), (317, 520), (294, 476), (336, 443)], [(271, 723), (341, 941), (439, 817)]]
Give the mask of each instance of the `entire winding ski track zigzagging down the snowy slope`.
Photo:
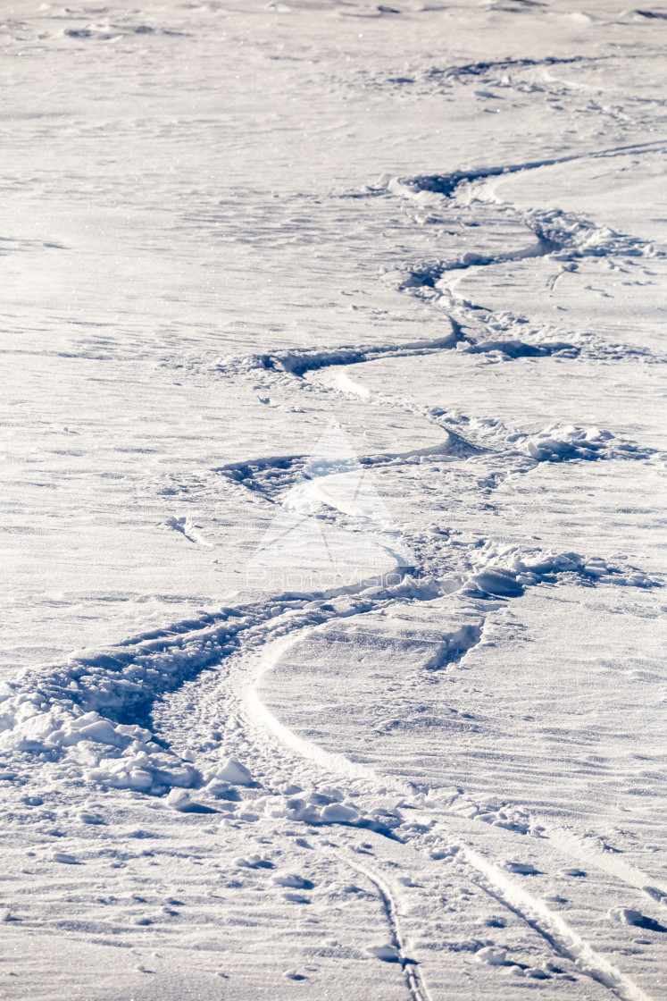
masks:
[[(665, 16), (647, 12), (639, 13), (647, 17)], [(149, 29), (135, 28), (132, 30)], [(117, 33), (115, 27), (114, 32)], [(89, 37), (91, 32), (67, 30), (65, 34), (73, 38), (83, 39)], [(475, 77), (489, 69), (551, 66), (560, 63), (581, 62), (582, 58), (577, 56), (570, 59), (501, 60), (495, 63), (450, 67), (441, 72), (443, 77), (447, 79), (461, 75)], [(599, 152), (573, 153), (502, 166), (457, 170), (448, 174), (387, 178), (380, 185), (377, 193), (399, 196), (407, 200), (421, 200), (424, 203), (427, 203), (432, 196), (450, 201), (466, 192), (469, 194), (470, 189), (474, 188), (475, 185), (477, 185), (477, 194), (482, 194), (483, 192), (479, 188), (480, 183), (506, 174), (536, 170), (584, 158), (610, 158), (624, 152), (664, 149), (665, 140), (656, 140), (648, 143), (611, 147)], [(507, 205), (499, 210), (507, 209), (513, 211), (512, 207)], [(498, 351), (508, 359), (548, 357), (559, 353), (569, 357), (580, 355), (583, 351), (581, 345), (565, 340), (528, 342), (516, 337), (498, 337), (497, 334), (488, 339), (488, 326), (480, 322), (477, 315), (479, 307), (462, 300), (457, 301), (451, 291), (437, 287), (438, 283), (442, 282), (449, 272), (468, 267), (493, 267), (509, 261), (537, 256), (555, 256), (568, 262), (587, 254), (606, 255), (609, 253), (610, 242), (612, 252), (624, 256), (642, 256), (648, 252), (641, 241), (618, 234), (612, 234), (607, 239), (606, 244), (595, 243), (594, 239), (591, 243), (591, 238), (595, 237), (594, 227), (564, 213), (542, 211), (520, 213), (520, 215), (527, 231), (533, 237), (533, 242), (524, 247), (493, 255), (472, 254), (462, 259), (450, 261), (422, 262), (408, 266), (398, 276), (394, 276), (394, 284), (398, 291), (425, 297), (430, 304), (440, 307), (444, 304), (449, 309), (452, 328), (449, 334), (431, 341), (406, 341), (399, 344), (387, 343), (357, 347), (343, 345), (331, 350), (304, 348), (273, 354), (244, 356), (225, 359), (217, 367), (232, 376), (252, 372), (253, 377), (256, 377), (259, 373), (265, 375), (269, 382), (275, 377), (283, 378), (286, 376), (284, 384), (288, 389), (291, 390), (298, 385), (299, 387), (305, 386), (308, 391), (311, 391), (313, 388), (321, 390), (323, 387), (316, 387), (312, 382), (306, 383), (305, 376), (307, 374), (338, 366), (341, 370), (334, 379), (334, 389), (341, 392), (356, 392), (357, 395), (366, 398), (368, 390), (354, 382), (345, 370), (347, 366), (365, 364), (380, 358), (412, 357), (453, 349), (470, 353)], [(588, 245), (586, 241), (589, 241)], [(652, 253), (654, 256), (664, 256), (661, 252), (652, 251)], [(486, 333), (487, 339), (471, 339), (464, 332), (462, 323), (472, 327), (477, 324), (478, 332)], [(409, 401), (400, 401), (382, 395), (379, 398), (393, 406), (417, 412)], [(461, 426), (452, 426), (443, 414), (434, 414), (425, 410), (418, 412), (446, 431), (447, 441), (443, 442), (440, 451), (437, 448), (431, 448), (375, 456), (367, 455), (361, 458), (362, 464), (396, 464), (409, 461), (419, 455), (428, 454), (486, 456), (495, 453), (505, 457), (517, 455), (516, 449), (508, 447), (509, 442), (507, 441), (511, 434), (516, 436), (514, 429), (498, 425), (495, 438), (491, 436), (491, 440), (488, 438), (485, 440), (483, 435), (475, 437), (474, 418), (463, 418)], [(479, 434), (481, 428), (477, 427), (476, 430)], [(597, 459), (610, 454), (647, 458), (651, 454), (646, 449), (612, 438), (612, 442), (615, 442), (614, 450), (608, 442), (608, 438), (592, 442), (565, 442), (560, 451), (556, 449), (555, 453), (552, 451), (551, 454), (545, 453), (543, 455), (519, 452), (523, 463), (519, 467), (519, 471), (527, 472), (535, 468), (540, 461)], [(303, 458), (302, 455), (268, 456), (228, 463), (215, 471), (227, 477), (230, 482), (239, 483), (246, 489), (261, 494), (265, 499), (273, 500), (278, 495), (279, 490), (292, 482), (299, 474), (299, 466), (302, 464)], [(512, 471), (516, 472), (517, 468), (513, 467)], [(267, 473), (271, 475), (267, 476)], [(278, 475), (275, 475), (276, 473)], [(494, 483), (497, 484), (497, 482), (498, 480), (494, 479)], [(201, 536), (198, 527), (192, 526), (185, 519), (170, 519), (165, 523), (165, 527), (181, 533), (192, 544), (210, 545)], [(558, 572), (556, 571), (556, 573)], [(579, 568), (577, 573), (584, 575), (585, 571)], [(611, 573), (613, 574), (614, 571), (612, 570)], [(469, 579), (473, 577), (473, 574), (468, 576)], [(593, 576), (591, 580), (594, 582), (596, 576)], [(531, 583), (539, 584), (540, 580)], [(456, 581), (453, 593), (463, 593), (466, 580)], [(422, 595), (415, 593), (418, 592), (420, 586), (424, 589)], [(401, 587), (405, 592), (403, 595), (400, 593)], [(410, 592), (411, 587), (412, 593)], [(285, 645), (294, 642), (296, 637), (304, 636), (308, 631), (322, 623), (363, 615), (396, 602), (431, 600), (437, 590), (437, 587), (434, 590), (432, 584), (425, 582), (420, 584), (417, 581), (410, 585), (409, 582), (404, 581), (394, 594), (387, 592), (382, 596), (364, 597), (360, 595), (355, 598), (354, 592), (348, 591), (346, 596), (348, 606), (340, 613), (315, 607), (318, 602), (320, 606), (323, 605), (323, 600), (327, 596), (270, 596), (255, 604), (224, 609), (195, 619), (183, 620), (166, 631), (156, 630), (129, 638), (112, 650), (80, 657), (72, 665), (52, 671), (46, 677), (33, 677), (27, 673), (18, 685), (12, 687), (9, 701), (12, 698), (15, 701), (18, 699), (16, 708), (20, 710), (20, 706), (24, 704), (27, 696), (34, 695), (37, 700), (36, 705), (42, 711), (48, 712), (49, 708), (66, 694), (70, 699), (70, 705), (78, 705), (86, 712), (101, 711), (112, 722), (116, 720), (121, 725), (145, 727), (151, 723), (151, 714), (158, 698), (178, 691), (186, 681), (196, 678), (207, 668), (220, 665), (224, 660), (238, 661), (242, 660), (248, 651), (254, 651), (255, 654), (259, 652), (261, 674), (271, 670), (272, 667), (272, 659), (267, 660), (266, 655), (262, 654), (263, 649), (271, 641), (278, 640), (273, 652), (279, 652)], [(523, 593), (523, 589), (520, 589), (520, 593)], [(448, 663), (455, 663), (474, 649), (481, 640), (482, 629), (473, 629), (472, 627), (468, 627), (468, 629), (470, 635), (460, 638), (460, 645), (454, 653), (451, 649), (443, 646), (441, 654), (429, 667), (437, 670)], [(165, 658), (169, 661), (166, 665)], [(76, 688), (72, 689), (72, 681), (77, 677), (77, 674)], [(241, 680), (234, 678), (233, 671), (228, 677), (232, 683), (230, 695), (233, 699), (238, 696), (238, 692), (234, 689), (234, 683), (241, 684)], [(414, 793), (414, 790), (407, 785), (392, 783), (386, 778), (378, 776), (371, 769), (355, 764), (344, 755), (326, 752), (290, 731), (270, 713), (259, 699), (256, 691), (258, 681), (259, 675), (252, 680), (251, 685), (247, 688), (243, 706), (239, 708), (239, 712), (245, 713), (249, 726), (250, 732), (247, 736), (252, 738), (253, 731), (259, 733), (258, 746), (271, 753), (275, 750), (273, 741), (277, 740), (294, 752), (298, 758), (313, 762), (318, 769), (323, 770), (325, 777), (333, 774), (346, 781), (362, 780), (376, 788), (379, 786), (392, 787), (399, 796)], [(0, 710), (3, 708), (6, 708), (6, 703), (0, 704)], [(102, 718), (102, 722), (104, 718)], [(5, 723), (9, 725), (10, 731), (12, 722), (11, 717), (5, 718)], [(56, 745), (57, 742), (54, 743), (54, 748)], [(168, 748), (168, 742), (163, 740), (160, 747), (162, 749)], [(25, 750), (30, 750), (30, 741), (28, 741)], [(55, 750), (53, 753), (57, 754)], [(173, 784), (195, 785), (197, 770), (188, 763), (181, 762), (180, 764), (182, 771), (170, 775), (170, 779), (174, 780)], [(158, 780), (164, 780), (164, 770), (162, 772), (156, 771), (156, 776)], [(446, 832), (446, 814), (438, 819), (438, 827)], [(382, 832), (381, 828), (376, 828), (376, 830), (390, 835), (390, 832)], [(508, 837), (511, 836), (508, 833)], [(576, 841), (567, 832), (555, 830), (545, 832), (542, 839), (550, 840), (556, 847), (567, 851), (578, 859), (588, 859), (619, 881), (640, 890), (654, 902), (663, 906), (667, 903), (667, 893), (650, 885), (644, 874), (621, 860), (600, 852), (587, 850), (581, 842)], [(605, 957), (596, 953), (590, 943), (583, 940), (560, 915), (550, 910), (543, 901), (538, 900), (519, 886), (516, 881), (511, 880), (497, 866), (475, 851), (472, 846), (462, 845), (461, 852), (467, 865), (474, 871), (473, 881), (476, 881), (477, 885), (495, 901), (512, 911), (537, 932), (554, 953), (570, 959), (575, 963), (580, 973), (602, 984), (620, 1001), (649, 1001), (648, 995), (629, 977), (625, 976)], [(407, 954), (399, 920), (399, 908), (391, 887), (377, 871), (353, 858), (351, 852), (336, 852), (335, 855), (345, 865), (363, 874), (375, 887), (385, 912), (392, 944), (398, 950), (399, 964), (402, 968), (407, 991), (412, 1001), (430, 1001), (430, 994), (423, 977)]]

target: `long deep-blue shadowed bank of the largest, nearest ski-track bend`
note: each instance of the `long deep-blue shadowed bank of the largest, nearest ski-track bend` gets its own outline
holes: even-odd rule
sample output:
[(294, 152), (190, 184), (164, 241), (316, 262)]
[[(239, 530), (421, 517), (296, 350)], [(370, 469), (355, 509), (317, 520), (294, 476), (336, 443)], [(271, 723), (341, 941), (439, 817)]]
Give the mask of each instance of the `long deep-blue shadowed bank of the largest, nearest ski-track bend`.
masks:
[[(470, 544), (470, 552), (477, 556), (482, 553), (483, 557), (476, 542)], [(634, 582), (632, 569), (623, 572), (601, 567), (594, 562), (586, 563), (582, 558), (573, 560), (572, 554), (551, 559), (543, 557), (534, 571), (519, 573), (505, 568), (502, 559), (496, 558), (491, 550), (487, 564), (468, 565), (462, 573), (441, 580), (413, 580), (404, 573), (398, 585), (386, 590), (376, 588), (370, 597), (364, 594), (367, 585), (363, 583), (357, 588), (342, 588), (340, 594), (348, 596), (351, 602), (343, 613), (347, 617), (390, 601), (432, 600), (453, 592), (483, 597), (485, 589), (490, 589), (492, 595), (496, 589), (495, 593), (501, 596), (518, 597), (525, 586), (554, 580), (559, 574), (569, 574), (591, 584), (601, 579), (605, 583), (616, 579), (626, 586), (656, 586), (656, 582), (641, 574)], [(355, 591), (360, 593), (356, 598)], [(26, 702), (28, 694), (31, 705), (41, 712), (48, 712), (64, 698), (70, 706), (76, 705), (85, 712), (101, 710), (110, 719), (123, 724), (140, 720), (143, 725), (156, 698), (176, 691), (185, 680), (235, 653), (240, 639), (262, 643), (268, 638), (267, 633), (270, 635), (278, 629), (292, 632), (301, 626), (320, 625), (337, 618), (340, 614), (324, 601), (335, 594), (334, 591), (307, 596), (298, 593), (271, 596), (249, 605), (223, 608), (196, 619), (186, 619), (167, 630), (147, 631), (116, 647), (80, 654), (68, 665), (46, 673), (35, 675), (28, 670), (8, 686), (5, 702), (0, 703), (4, 710), (4, 730), (11, 731), (16, 722), (8, 712), (12, 699), (20, 715), (20, 706)], [(303, 618), (299, 618), (300, 614)], [(463, 649), (467, 649), (465, 643)]]

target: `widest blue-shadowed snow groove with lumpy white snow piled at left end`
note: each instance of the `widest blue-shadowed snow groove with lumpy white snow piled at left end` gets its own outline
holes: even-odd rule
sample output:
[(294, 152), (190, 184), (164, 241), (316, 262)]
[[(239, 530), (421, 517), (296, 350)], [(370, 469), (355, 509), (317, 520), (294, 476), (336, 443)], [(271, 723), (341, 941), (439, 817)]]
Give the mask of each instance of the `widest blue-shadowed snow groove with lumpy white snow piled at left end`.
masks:
[[(459, 547), (456, 553), (461, 553)], [(154, 736), (152, 714), (158, 699), (178, 691), (205, 670), (219, 670), (230, 655), (262, 650), (271, 640), (396, 602), (432, 601), (454, 593), (472, 600), (489, 596), (511, 600), (526, 587), (561, 576), (590, 586), (597, 582), (655, 585), (638, 572), (622, 572), (603, 561), (571, 553), (523, 552), (516, 547), (499, 550), (493, 544), (480, 546), (473, 541), (467, 554), (459, 570), (444, 576), (419, 578), (403, 572), (397, 584), (386, 587), (368, 589), (360, 584), (318, 595), (270, 596), (238, 608), (205, 612), (198, 620), (185, 620), (168, 630), (79, 655), (50, 672), (28, 671), (1, 693), (0, 748), (57, 761), (64, 755), (76, 758), (81, 745), (87, 748), (81, 771), (88, 781), (151, 795), (163, 795), (172, 786), (197, 787), (202, 784), (200, 771), (175, 754), (168, 741)], [(474, 630), (453, 637), (442, 663), (432, 667), (444, 667), (452, 655), (463, 656), (480, 638)], [(291, 739), (277, 722), (264, 722), (281, 739)], [(319, 757), (319, 752), (306, 745), (299, 745), (299, 753)], [(337, 763), (339, 771), (350, 767), (347, 760)], [(357, 777), (369, 778), (363, 768)]]

